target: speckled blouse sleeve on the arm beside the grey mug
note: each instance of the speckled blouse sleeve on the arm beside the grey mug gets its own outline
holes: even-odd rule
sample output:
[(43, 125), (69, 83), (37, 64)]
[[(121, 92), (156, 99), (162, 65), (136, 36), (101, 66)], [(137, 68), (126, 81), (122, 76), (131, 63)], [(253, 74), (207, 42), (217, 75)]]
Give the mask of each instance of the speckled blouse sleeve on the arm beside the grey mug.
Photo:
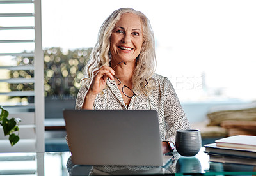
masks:
[(176, 131), (190, 129), (191, 126), (170, 80), (164, 78), (163, 85), (165, 137), (166, 140), (175, 142)]

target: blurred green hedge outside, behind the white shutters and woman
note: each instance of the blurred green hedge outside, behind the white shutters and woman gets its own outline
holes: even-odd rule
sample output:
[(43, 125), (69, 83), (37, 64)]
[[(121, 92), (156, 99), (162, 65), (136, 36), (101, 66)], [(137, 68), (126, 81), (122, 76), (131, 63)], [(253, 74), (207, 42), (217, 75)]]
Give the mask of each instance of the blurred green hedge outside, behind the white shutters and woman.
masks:
[[(80, 80), (84, 77), (83, 68), (86, 66), (92, 48), (76, 50), (63, 50), (58, 47), (44, 50), (44, 88), (47, 96), (76, 96), (80, 88)], [(28, 52), (24, 52), (28, 53)], [(13, 62), (17, 66), (33, 65), (33, 57), (17, 56)], [(10, 78), (34, 78), (34, 70), (10, 70)], [(33, 82), (10, 83), (11, 91), (33, 91)], [(17, 98), (17, 97), (10, 97)], [(20, 96), (20, 103), (27, 101), (33, 103), (33, 96)]]

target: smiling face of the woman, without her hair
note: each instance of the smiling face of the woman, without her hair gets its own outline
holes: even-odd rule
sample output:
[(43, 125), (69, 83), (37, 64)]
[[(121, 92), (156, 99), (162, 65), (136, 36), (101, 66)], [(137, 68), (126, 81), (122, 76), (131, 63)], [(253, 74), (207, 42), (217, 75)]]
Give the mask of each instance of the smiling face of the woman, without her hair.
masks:
[(124, 13), (116, 22), (110, 38), (110, 51), (115, 62), (135, 62), (143, 43), (142, 24), (138, 15)]

